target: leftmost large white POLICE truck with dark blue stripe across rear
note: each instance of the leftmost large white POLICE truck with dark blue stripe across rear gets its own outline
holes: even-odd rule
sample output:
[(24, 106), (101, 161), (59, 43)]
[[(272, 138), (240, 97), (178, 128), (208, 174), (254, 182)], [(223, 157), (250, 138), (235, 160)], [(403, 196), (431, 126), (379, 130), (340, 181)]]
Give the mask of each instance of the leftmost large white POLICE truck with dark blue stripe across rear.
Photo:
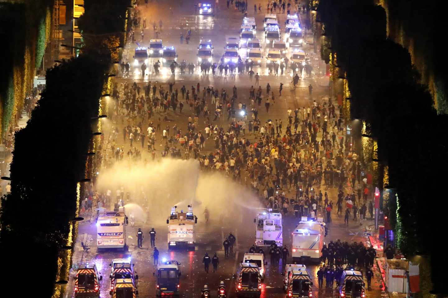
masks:
[(100, 208), (97, 222), (97, 249), (98, 252), (107, 248), (126, 248), (126, 217), (125, 207), (118, 211), (107, 211)]

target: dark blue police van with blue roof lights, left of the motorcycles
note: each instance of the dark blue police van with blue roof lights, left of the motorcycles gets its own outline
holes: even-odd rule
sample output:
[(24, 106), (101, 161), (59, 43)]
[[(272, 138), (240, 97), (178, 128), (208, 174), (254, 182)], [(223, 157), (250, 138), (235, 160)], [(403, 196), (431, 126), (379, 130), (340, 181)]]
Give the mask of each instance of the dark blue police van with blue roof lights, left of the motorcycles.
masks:
[(157, 265), (155, 276), (155, 293), (157, 296), (179, 296), (181, 276), (180, 263), (175, 260), (162, 260)]

